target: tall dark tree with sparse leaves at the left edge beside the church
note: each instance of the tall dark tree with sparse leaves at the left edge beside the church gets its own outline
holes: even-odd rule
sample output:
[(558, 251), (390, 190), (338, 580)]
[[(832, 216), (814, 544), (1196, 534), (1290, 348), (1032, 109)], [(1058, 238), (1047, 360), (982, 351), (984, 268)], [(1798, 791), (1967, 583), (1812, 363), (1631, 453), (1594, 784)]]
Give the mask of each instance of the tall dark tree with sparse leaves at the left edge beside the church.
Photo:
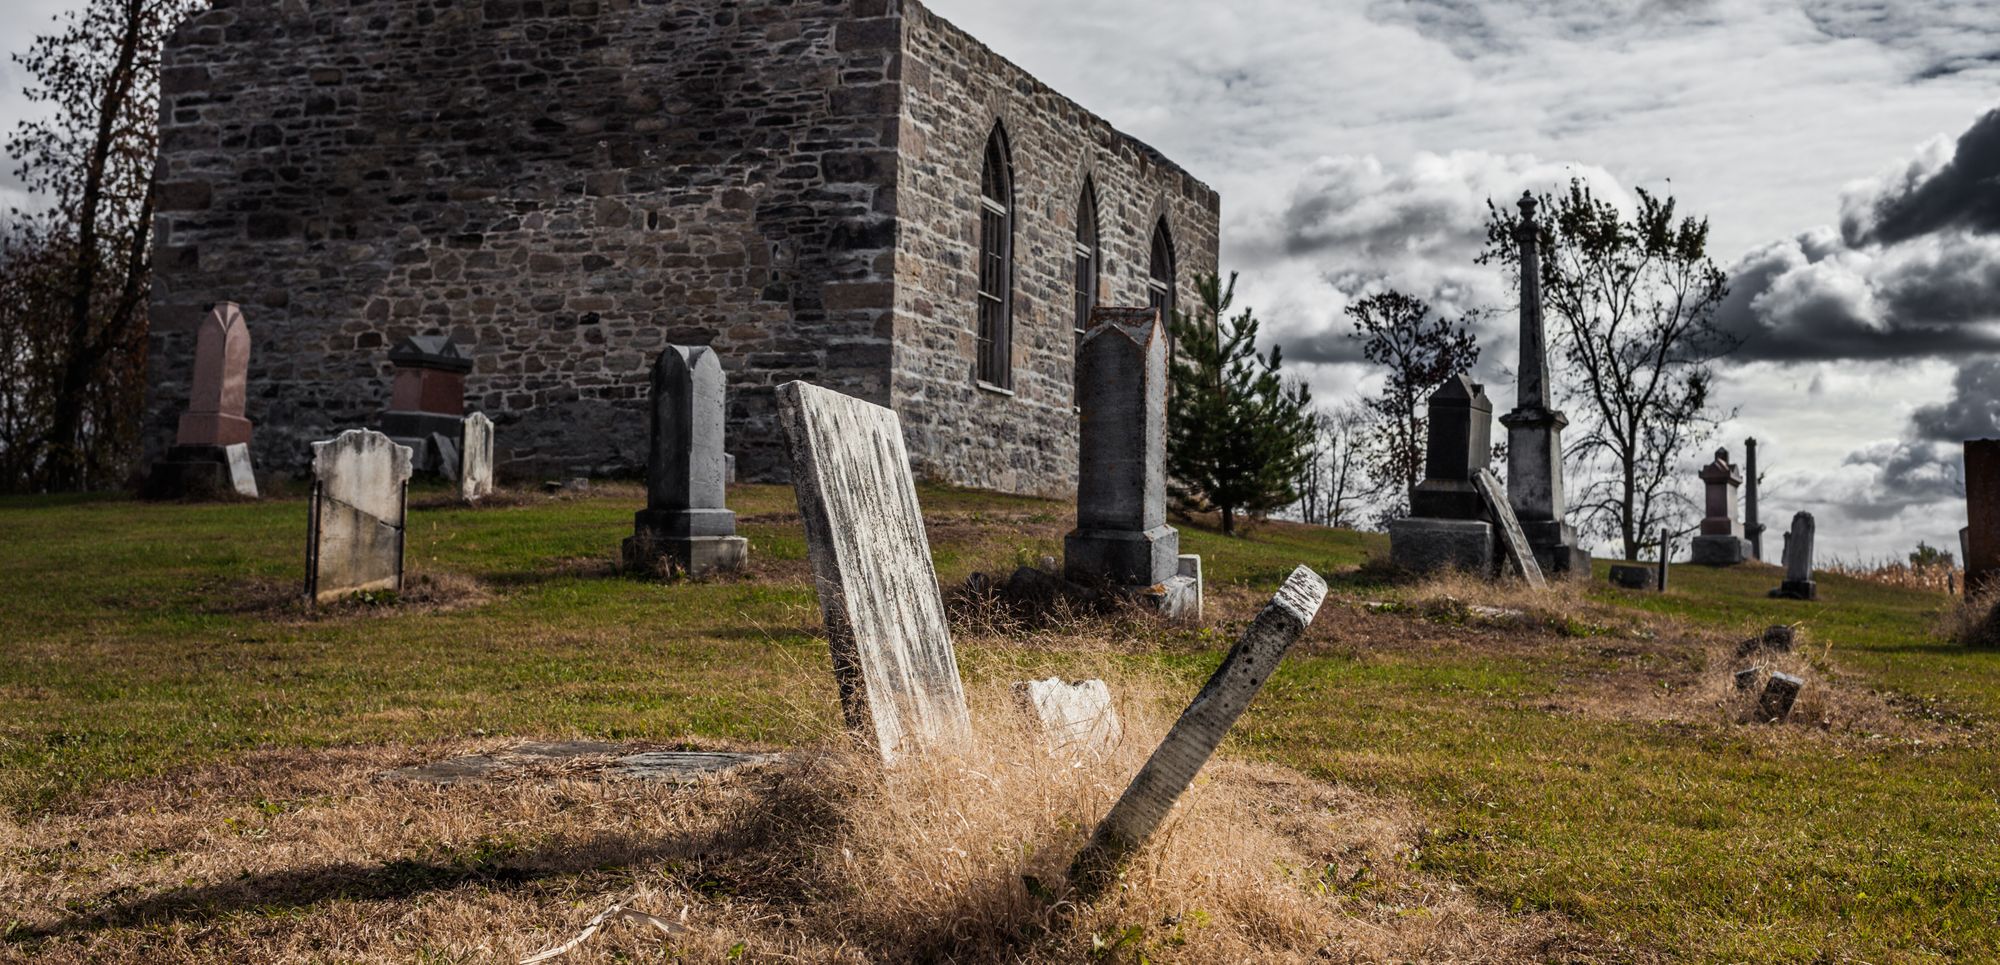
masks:
[(28, 376), (0, 436), (14, 489), (102, 487), (130, 460), (146, 380), (160, 44), (198, 6), (88, 0), (14, 56), (32, 78), (28, 100), (52, 108), (8, 138), (16, 176), (48, 202), (12, 212), (0, 262), (0, 286), (24, 298), (0, 312), (16, 328), (0, 340), (22, 352), (0, 364)]

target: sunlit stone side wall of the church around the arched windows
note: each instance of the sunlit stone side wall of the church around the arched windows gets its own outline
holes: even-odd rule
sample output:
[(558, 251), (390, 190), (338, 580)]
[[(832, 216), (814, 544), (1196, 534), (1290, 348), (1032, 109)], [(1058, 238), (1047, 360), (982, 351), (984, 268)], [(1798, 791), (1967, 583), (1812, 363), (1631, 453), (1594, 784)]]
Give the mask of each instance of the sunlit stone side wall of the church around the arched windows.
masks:
[[(904, 10), (892, 394), (918, 470), (980, 489), (1076, 491), (1074, 238), (1096, 184), (1098, 304), (1144, 306), (1154, 224), (1176, 298), (1216, 270), (1220, 200), (1152, 148), (1056, 94), (916, 0)], [(994, 124), (1014, 162), (1014, 386), (974, 380), (980, 172)]]

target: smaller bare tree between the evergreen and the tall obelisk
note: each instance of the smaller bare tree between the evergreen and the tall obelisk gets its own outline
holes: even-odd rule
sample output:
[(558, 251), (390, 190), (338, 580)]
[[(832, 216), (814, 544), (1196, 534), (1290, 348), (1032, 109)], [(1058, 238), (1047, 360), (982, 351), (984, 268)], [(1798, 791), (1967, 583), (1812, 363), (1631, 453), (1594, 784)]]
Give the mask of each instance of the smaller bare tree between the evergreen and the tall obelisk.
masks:
[(1384, 513), (1402, 517), (1410, 489), (1424, 478), (1430, 392), (1480, 360), (1474, 318), (1452, 324), (1432, 314), (1430, 302), (1396, 290), (1348, 304), (1348, 336), (1362, 340), (1362, 354), (1388, 366), (1382, 392), (1362, 402), (1370, 414), (1368, 470), (1390, 491)]

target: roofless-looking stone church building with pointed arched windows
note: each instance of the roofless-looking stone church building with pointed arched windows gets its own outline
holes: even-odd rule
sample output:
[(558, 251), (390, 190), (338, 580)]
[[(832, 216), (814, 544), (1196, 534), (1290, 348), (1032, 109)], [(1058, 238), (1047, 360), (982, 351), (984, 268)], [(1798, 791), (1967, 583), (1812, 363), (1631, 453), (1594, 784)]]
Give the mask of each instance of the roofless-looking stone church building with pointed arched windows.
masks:
[(1214, 190), (916, 0), (216, 0), (160, 114), (148, 450), (234, 300), (260, 470), (448, 334), (504, 474), (640, 470), (682, 342), (746, 476), (806, 378), (896, 408), (930, 478), (1070, 493), (1080, 318), (1216, 270)]

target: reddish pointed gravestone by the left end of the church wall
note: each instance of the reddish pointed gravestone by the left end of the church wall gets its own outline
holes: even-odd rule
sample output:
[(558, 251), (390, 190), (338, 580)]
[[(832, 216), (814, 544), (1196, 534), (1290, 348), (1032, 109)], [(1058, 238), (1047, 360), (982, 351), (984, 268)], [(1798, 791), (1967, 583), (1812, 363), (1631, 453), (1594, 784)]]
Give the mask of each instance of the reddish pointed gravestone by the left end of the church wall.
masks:
[(250, 380), (250, 326), (234, 302), (216, 304), (194, 334), (194, 384), (174, 446), (154, 462), (144, 493), (150, 499), (256, 499), (250, 470), (250, 420), (244, 402)]

